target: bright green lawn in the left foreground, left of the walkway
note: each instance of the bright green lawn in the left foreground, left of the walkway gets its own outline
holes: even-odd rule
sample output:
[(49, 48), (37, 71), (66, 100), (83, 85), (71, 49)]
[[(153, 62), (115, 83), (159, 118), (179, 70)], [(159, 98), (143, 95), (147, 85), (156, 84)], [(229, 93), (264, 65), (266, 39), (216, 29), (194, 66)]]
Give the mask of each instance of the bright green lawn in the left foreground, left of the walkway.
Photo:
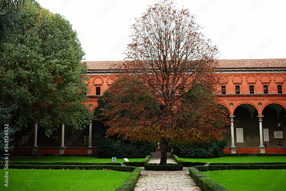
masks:
[(0, 169), (0, 190), (96, 190), (114, 191), (130, 172), (115, 170), (23, 170), (9, 169), (9, 187), (4, 186), (6, 170)]

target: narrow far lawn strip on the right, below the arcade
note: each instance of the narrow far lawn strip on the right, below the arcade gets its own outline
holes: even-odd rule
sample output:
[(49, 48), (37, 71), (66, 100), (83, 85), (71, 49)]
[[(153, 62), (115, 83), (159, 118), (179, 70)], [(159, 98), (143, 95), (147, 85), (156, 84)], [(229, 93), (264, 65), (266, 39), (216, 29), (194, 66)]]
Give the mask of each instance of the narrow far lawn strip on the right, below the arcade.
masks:
[(212, 163), (252, 163), (252, 162), (286, 162), (286, 156), (224, 156), (220, 158), (180, 158), (186, 162)]

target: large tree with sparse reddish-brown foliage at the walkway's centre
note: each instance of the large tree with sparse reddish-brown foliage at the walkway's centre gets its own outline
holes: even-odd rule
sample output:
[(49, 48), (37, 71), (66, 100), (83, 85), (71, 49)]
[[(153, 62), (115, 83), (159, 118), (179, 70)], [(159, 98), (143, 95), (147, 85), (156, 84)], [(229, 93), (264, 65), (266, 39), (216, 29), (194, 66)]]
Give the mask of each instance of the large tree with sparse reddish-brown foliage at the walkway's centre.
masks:
[(107, 136), (162, 142), (167, 146), (221, 139), (227, 113), (219, 106), (217, 49), (187, 9), (161, 0), (136, 18), (126, 62), (108, 89)]

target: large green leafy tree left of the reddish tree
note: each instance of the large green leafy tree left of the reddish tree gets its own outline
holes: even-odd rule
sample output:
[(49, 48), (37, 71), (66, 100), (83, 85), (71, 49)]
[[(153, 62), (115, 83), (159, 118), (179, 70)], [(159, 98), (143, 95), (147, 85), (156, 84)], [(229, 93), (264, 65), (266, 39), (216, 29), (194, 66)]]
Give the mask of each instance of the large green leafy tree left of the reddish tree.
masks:
[(82, 128), (92, 114), (83, 102), (88, 68), (77, 33), (33, 0), (25, 1), (18, 22), (0, 47), (0, 96), (5, 108), (17, 106), (9, 124), (38, 122), (47, 136), (61, 123)]

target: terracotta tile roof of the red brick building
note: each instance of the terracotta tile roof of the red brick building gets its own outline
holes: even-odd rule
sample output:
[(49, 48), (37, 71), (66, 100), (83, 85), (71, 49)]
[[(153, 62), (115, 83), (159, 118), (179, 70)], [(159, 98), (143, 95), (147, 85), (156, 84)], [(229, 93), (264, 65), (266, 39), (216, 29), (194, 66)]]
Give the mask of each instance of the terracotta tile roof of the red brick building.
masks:
[[(112, 66), (121, 65), (124, 61), (89, 61), (90, 70), (112, 70)], [(218, 60), (220, 69), (226, 68), (286, 68), (286, 59), (244, 59)]]

